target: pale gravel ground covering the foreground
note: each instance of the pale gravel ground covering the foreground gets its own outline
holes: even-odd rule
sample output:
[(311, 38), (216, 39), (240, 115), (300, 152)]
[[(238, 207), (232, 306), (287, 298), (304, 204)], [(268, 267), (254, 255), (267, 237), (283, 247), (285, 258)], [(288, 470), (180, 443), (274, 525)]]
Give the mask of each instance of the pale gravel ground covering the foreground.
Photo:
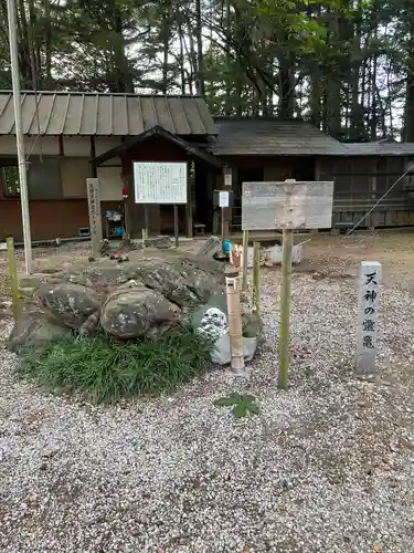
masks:
[[(278, 271), (250, 382), (79, 405), (21, 383), (0, 352), (0, 551), (414, 551), (411, 295), (382, 296), (381, 380), (353, 377), (352, 279), (294, 274), (290, 389), (276, 386)], [(4, 333), (8, 328), (4, 328)], [(247, 389), (261, 416), (213, 400)]]

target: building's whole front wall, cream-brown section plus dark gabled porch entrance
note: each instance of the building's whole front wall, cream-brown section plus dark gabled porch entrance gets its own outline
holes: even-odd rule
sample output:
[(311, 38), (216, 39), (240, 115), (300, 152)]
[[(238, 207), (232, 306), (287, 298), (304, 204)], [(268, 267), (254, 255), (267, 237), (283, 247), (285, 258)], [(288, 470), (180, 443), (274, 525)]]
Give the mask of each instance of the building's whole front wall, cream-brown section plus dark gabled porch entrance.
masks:
[[(93, 143), (91, 137), (78, 136), (39, 137), (34, 142), (28, 139), (28, 147), (34, 146), (28, 174), (34, 240), (77, 237), (81, 227), (88, 227), (86, 178), (95, 176), (89, 159), (118, 146), (120, 142), (114, 137), (95, 137)], [(189, 163), (190, 159), (182, 148), (155, 137), (137, 145), (123, 160), (119, 157), (114, 158), (96, 168), (96, 176), (102, 186), (103, 213), (107, 209), (119, 207), (123, 201), (121, 190), (128, 184), (131, 191), (129, 230), (134, 237), (140, 237), (145, 226), (145, 210), (134, 201), (134, 160)], [(0, 136), (0, 170), (2, 166), (17, 166), (14, 137)], [(181, 233), (187, 234), (191, 230), (191, 202), (188, 206), (179, 206)], [(148, 221), (150, 233), (172, 233), (172, 206), (149, 206)], [(20, 200), (18, 197), (7, 197), (0, 181), (0, 239), (8, 234), (13, 234), (17, 239), (22, 237)]]

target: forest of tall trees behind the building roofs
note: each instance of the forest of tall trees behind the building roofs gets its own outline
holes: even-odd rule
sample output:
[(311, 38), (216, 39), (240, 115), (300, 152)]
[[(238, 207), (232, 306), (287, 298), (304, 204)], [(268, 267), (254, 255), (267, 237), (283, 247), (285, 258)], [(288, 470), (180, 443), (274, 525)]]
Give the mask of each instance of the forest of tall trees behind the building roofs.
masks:
[[(0, 87), (11, 88), (7, 0)], [(414, 0), (17, 0), (22, 90), (200, 94), (414, 142)]]

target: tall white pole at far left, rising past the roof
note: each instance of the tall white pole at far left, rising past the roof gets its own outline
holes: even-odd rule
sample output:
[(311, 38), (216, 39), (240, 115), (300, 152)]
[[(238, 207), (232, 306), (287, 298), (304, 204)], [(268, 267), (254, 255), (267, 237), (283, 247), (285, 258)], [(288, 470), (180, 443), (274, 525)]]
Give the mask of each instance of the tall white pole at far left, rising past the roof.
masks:
[(11, 65), (11, 79), (13, 85), (15, 143), (18, 146), (18, 161), (19, 161), (20, 201), (22, 206), (25, 272), (30, 274), (32, 272), (32, 238), (30, 233), (28, 175), (26, 175), (24, 137), (22, 127), (22, 105), (20, 95), (19, 54), (18, 54), (18, 36), (17, 36), (18, 24), (15, 17), (14, 0), (8, 0), (8, 19), (9, 19), (10, 65)]

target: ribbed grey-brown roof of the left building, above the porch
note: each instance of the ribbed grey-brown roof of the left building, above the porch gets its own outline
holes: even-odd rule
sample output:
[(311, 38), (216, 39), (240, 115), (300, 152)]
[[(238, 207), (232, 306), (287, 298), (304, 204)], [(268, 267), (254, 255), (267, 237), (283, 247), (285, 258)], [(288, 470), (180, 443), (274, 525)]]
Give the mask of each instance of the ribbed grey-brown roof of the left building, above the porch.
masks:
[[(21, 97), (26, 135), (135, 136), (156, 125), (181, 136), (216, 133), (198, 96), (28, 92)], [(14, 133), (12, 93), (0, 92), (0, 135)]]

